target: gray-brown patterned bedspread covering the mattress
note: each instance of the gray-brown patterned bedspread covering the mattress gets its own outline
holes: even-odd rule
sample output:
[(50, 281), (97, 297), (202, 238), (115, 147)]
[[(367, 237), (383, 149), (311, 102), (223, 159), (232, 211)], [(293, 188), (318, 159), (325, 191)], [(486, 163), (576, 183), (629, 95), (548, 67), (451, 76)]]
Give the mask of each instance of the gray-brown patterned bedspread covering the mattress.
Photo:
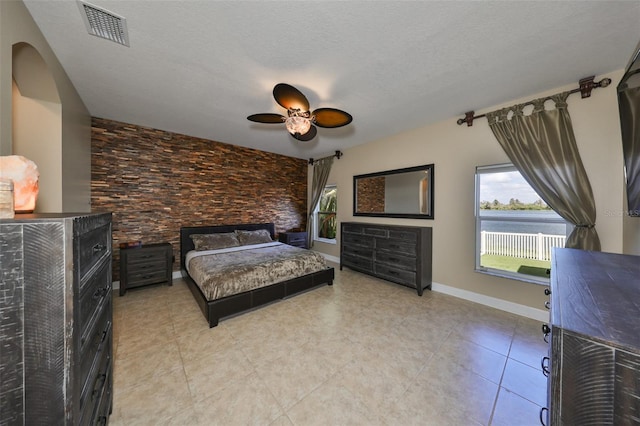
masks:
[(318, 253), (282, 243), (189, 252), (187, 271), (207, 300), (286, 281), (327, 267)]

